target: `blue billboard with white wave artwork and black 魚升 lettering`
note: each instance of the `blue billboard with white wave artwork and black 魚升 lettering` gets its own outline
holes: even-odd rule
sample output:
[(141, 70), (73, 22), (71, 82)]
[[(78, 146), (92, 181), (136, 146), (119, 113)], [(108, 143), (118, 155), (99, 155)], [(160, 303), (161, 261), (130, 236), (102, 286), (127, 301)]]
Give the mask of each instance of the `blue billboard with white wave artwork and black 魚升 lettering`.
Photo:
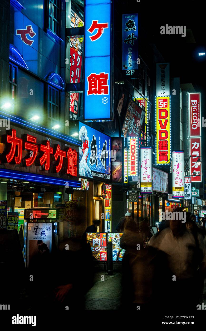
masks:
[(111, 180), (111, 138), (79, 122), (79, 176)]

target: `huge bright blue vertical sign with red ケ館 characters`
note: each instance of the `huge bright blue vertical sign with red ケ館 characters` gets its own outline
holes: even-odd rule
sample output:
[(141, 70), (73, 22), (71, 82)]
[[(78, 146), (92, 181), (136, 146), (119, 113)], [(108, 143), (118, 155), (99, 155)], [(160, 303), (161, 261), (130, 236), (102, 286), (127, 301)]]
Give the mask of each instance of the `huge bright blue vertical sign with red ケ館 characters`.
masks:
[(112, 120), (111, 2), (85, 1), (84, 120)]

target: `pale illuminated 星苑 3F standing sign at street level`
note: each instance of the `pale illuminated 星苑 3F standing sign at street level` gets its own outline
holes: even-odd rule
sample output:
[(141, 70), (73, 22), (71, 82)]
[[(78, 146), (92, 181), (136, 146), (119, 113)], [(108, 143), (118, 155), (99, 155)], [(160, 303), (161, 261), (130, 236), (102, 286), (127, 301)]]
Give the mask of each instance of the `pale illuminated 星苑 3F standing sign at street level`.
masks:
[(52, 223), (27, 224), (26, 265), (38, 265), (41, 257), (52, 252)]

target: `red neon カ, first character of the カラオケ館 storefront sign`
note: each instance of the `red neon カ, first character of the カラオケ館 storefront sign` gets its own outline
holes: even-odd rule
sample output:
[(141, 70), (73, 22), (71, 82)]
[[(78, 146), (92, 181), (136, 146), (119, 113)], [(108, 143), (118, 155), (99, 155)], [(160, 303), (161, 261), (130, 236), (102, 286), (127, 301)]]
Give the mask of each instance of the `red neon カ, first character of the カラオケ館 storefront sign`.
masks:
[(11, 136), (7, 135), (7, 142), (12, 144), (10, 152), (6, 155), (7, 162), (10, 163), (13, 160), (17, 147), (18, 153), (15, 156), (15, 163), (19, 165), (22, 157), (22, 139), (17, 138), (17, 131), (15, 129), (12, 129)]

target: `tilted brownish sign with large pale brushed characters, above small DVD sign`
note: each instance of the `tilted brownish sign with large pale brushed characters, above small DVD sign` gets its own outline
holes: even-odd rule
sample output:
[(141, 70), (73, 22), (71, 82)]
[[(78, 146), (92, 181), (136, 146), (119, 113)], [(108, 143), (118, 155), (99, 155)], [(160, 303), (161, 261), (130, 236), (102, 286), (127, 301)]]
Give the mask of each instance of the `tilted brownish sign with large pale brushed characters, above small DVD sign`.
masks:
[(139, 137), (144, 121), (144, 110), (133, 100), (129, 100), (127, 112), (122, 126), (124, 137)]

